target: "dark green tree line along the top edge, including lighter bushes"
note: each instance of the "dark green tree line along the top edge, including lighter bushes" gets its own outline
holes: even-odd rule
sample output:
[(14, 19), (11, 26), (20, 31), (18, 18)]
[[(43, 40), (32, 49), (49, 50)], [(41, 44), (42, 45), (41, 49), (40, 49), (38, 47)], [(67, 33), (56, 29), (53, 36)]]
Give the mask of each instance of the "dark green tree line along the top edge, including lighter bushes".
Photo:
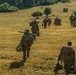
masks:
[[(40, 5), (52, 5), (58, 2), (69, 2), (69, 0), (0, 0), (0, 11), (17, 11)], [(12, 6), (12, 7), (11, 7)]]

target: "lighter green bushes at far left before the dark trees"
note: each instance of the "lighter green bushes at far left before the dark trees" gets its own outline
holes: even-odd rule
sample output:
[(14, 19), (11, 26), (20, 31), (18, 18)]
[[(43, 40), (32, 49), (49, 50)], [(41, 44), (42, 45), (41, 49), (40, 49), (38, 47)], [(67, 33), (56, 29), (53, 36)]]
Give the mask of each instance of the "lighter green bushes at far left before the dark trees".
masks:
[(0, 12), (14, 12), (14, 11), (18, 11), (18, 8), (10, 6), (7, 2), (0, 5)]

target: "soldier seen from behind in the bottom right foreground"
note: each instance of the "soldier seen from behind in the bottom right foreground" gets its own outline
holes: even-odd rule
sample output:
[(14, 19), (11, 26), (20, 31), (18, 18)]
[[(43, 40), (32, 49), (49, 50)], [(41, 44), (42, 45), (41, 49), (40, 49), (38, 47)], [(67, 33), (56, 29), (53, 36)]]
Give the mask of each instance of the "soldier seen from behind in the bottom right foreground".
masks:
[(75, 51), (71, 47), (72, 42), (68, 42), (67, 47), (62, 47), (58, 56), (58, 63), (64, 62), (64, 69), (66, 75), (69, 75), (70, 70), (75, 68)]

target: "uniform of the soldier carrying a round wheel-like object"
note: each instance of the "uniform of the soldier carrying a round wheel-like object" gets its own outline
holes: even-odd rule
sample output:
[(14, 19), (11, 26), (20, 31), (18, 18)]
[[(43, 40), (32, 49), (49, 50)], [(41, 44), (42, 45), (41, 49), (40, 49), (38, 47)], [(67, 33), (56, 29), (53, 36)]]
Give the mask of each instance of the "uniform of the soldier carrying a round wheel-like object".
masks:
[(26, 58), (29, 57), (29, 51), (33, 41), (34, 38), (29, 32), (25, 32), (22, 36), (20, 45), (23, 47), (23, 60), (26, 60)]

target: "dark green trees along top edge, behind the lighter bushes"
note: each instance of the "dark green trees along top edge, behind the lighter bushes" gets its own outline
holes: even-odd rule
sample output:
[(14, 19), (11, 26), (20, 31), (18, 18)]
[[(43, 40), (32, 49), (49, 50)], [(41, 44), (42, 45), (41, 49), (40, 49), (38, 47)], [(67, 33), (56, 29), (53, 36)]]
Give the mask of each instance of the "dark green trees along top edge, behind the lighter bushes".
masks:
[(19, 9), (22, 9), (38, 5), (52, 5), (58, 2), (65, 3), (69, 2), (69, 0), (0, 0), (0, 4), (5, 2)]

